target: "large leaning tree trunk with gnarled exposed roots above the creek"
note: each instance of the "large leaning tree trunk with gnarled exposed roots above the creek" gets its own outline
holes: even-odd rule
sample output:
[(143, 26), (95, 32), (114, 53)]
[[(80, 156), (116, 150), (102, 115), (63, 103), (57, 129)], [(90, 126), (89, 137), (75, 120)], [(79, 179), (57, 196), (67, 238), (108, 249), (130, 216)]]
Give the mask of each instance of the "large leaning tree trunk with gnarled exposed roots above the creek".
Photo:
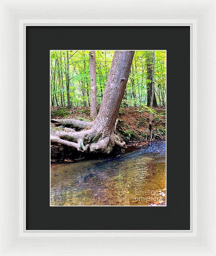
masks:
[[(51, 143), (77, 148), (79, 151), (110, 153), (114, 147), (123, 147), (125, 142), (114, 134), (115, 122), (125, 92), (134, 51), (115, 51), (103, 100), (98, 116), (91, 123), (85, 123), (87, 130), (79, 132), (51, 131)], [(53, 120), (59, 125), (65, 120)], [(63, 124), (64, 124), (63, 123)], [(73, 126), (71, 126), (73, 127)]]

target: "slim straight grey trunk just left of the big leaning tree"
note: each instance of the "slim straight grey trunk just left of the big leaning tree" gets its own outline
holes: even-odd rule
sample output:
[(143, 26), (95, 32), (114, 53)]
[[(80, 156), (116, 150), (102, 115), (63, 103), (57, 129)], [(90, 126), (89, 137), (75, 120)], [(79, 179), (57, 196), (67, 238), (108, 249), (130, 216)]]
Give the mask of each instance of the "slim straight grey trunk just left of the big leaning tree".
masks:
[(90, 116), (96, 118), (97, 112), (97, 86), (96, 86), (96, 60), (95, 51), (89, 52), (89, 66), (90, 66), (90, 80), (91, 80), (91, 90), (90, 90)]

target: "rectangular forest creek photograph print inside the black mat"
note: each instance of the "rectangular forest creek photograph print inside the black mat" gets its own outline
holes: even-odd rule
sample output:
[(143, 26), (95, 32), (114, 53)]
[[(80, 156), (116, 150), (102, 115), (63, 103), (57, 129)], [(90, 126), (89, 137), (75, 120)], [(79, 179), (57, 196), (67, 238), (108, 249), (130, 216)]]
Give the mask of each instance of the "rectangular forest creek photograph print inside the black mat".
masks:
[(166, 57), (50, 51), (50, 206), (166, 207)]

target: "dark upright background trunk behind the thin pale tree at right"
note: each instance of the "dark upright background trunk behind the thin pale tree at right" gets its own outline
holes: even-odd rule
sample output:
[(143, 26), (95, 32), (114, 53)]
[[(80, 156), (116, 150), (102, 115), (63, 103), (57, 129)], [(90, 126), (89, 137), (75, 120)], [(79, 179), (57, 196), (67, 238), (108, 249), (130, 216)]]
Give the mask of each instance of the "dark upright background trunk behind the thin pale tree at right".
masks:
[[(150, 107), (150, 101), (152, 98), (152, 81), (153, 81), (153, 53), (149, 51), (146, 55), (146, 65), (147, 65), (147, 79), (150, 81), (147, 83), (147, 106)], [(153, 91), (153, 107), (157, 107), (157, 100), (155, 92)]]

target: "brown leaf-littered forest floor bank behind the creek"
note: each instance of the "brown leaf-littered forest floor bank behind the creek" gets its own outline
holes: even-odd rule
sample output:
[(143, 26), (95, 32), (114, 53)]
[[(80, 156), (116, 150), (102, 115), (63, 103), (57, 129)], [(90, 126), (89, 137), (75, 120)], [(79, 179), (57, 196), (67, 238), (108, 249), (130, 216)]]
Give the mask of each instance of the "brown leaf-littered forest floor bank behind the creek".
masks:
[[(99, 110), (99, 109), (98, 109)], [(146, 146), (149, 142), (146, 140), (148, 123), (149, 123), (149, 114), (152, 113), (152, 127), (155, 138), (152, 141), (157, 139), (166, 139), (166, 108), (159, 106), (157, 108), (150, 109), (148, 107), (124, 107), (120, 108), (118, 113), (118, 123), (116, 126), (116, 133), (121, 136), (121, 138), (126, 142), (126, 147), (122, 151), (131, 151), (135, 148)], [(51, 107), (51, 119), (78, 119), (83, 121), (93, 121), (90, 120), (90, 108), (89, 107), (74, 107), (71, 109), (68, 108), (59, 108)], [(51, 124), (51, 129), (55, 130), (58, 127), (54, 127)], [(149, 131), (148, 131), (149, 135)], [(71, 153), (69, 153), (71, 155)], [(73, 153), (74, 158), (77, 157), (77, 154)], [(59, 157), (63, 161), (67, 160), (68, 154), (64, 156), (59, 155), (59, 151), (56, 146), (51, 146), (51, 159), (55, 162)], [(70, 159), (73, 157), (70, 157)]]

